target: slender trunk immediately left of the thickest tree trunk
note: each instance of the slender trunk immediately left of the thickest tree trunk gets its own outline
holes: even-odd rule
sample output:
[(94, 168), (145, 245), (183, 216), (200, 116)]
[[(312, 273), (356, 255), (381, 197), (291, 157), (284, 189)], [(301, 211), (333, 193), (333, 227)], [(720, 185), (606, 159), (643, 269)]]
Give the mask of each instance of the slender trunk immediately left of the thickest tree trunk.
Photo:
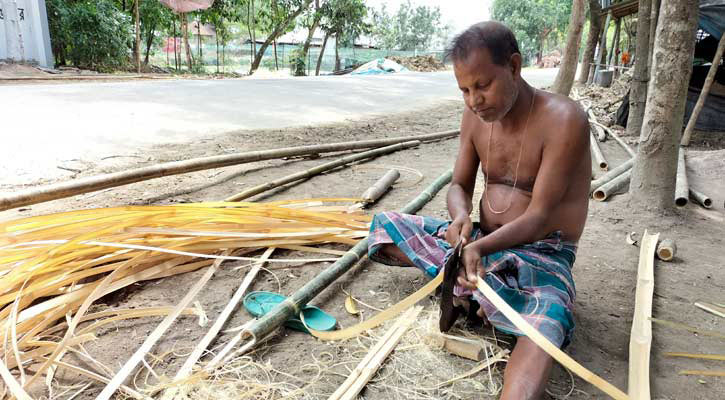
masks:
[(647, 54), (649, 53), (651, 8), (652, 0), (639, 0), (636, 60), (634, 61), (634, 73), (629, 93), (629, 116), (627, 117), (627, 134), (635, 137), (639, 136), (642, 130), (645, 102), (647, 101), (647, 82), (649, 82)]

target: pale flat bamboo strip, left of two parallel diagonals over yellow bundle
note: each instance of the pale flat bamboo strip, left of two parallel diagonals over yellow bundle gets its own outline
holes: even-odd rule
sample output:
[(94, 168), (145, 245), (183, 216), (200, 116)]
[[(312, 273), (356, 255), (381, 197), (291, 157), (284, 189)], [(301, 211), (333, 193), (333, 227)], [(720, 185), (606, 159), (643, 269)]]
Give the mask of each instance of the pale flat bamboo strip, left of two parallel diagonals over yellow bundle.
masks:
[[(229, 250), (225, 250), (225, 253), (229, 253)], [(103, 391), (96, 397), (96, 400), (108, 400), (118, 390), (118, 387), (126, 380), (126, 378), (136, 369), (136, 366), (151, 351), (151, 348), (156, 342), (161, 339), (161, 336), (171, 327), (176, 321), (176, 318), (181, 315), (181, 311), (185, 309), (196, 297), (196, 295), (204, 288), (204, 285), (211, 279), (214, 273), (222, 263), (222, 259), (214, 261), (211, 267), (204, 273), (204, 275), (194, 284), (194, 286), (186, 293), (183, 299), (176, 305), (174, 311), (167, 315), (163, 321), (146, 337), (146, 340), (141, 344), (141, 347), (136, 350), (135, 353), (129, 358), (123, 367), (111, 378), (108, 385), (103, 388)]]

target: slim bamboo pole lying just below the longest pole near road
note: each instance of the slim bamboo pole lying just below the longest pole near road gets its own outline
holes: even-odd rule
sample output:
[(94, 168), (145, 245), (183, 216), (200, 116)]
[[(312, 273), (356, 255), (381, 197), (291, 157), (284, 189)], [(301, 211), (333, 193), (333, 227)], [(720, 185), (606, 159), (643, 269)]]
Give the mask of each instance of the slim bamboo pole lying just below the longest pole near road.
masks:
[(392, 152), (395, 152), (395, 151), (398, 151), (398, 150), (407, 149), (407, 148), (410, 148), (410, 147), (415, 147), (415, 146), (418, 146), (419, 144), (420, 144), (420, 141), (413, 140), (413, 141), (410, 141), (410, 142), (397, 143), (397, 144), (393, 144), (393, 145), (386, 146), (386, 147), (380, 147), (380, 148), (377, 148), (377, 149), (368, 150), (368, 151), (365, 151), (365, 152), (362, 152), (362, 153), (352, 154), (352, 155), (349, 155), (349, 156), (340, 158), (338, 160), (334, 160), (334, 161), (330, 161), (330, 162), (327, 162), (327, 163), (324, 163), (324, 164), (320, 164), (320, 165), (318, 165), (316, 167), (307, 169), (307, 170), (302, 171), (302, 172), (296, 172), (294, 174), (287, 175), (287, 176), (284, 176), (284, 177), (275, 179), (275, 180), (273, 180), (271, 182), (267, 182), (267, 183), (264, 183), (262, 185), (258, 185), (258, 186), (251, 187), (249, 189), (243, 190), (243, 191), (235, 194), (234, 196), (231, 196), (231, 197), (225, 199), (224, 201), (240, 201), (240, 200), (244, 200), (246, 198), (249, 198), (249, 197), (252, 197), (254, 195), (257, 195), (257, 194), (266, 192), (268, 190), (271, 190), (271, 189), (280, 187), (282, 185), (286, 185), (288, 183), (295, 182), (295, 181), (299, 181), (299, 180), (302, 180), (302, 179), (311, 178), (311, 177), (313, 177), (313, 176), (315, 176), (317, 174), (320, 174), (322, 172), (329, 171), (331, 169), (334, 169), (334, 168), (337, 168), (337, 167), (341, 167), (343, 165), (350, 164), (350, 163), (353, 163), (355, 161), (360, 161), (360, 160), (364, 160), (364, 159), (367, 159), (367, 158), (373, 158), (373, 157), (377, 157), (377, 156), (380, 156), (380, 155), (383, 155), (383, 154), (392, 153)]

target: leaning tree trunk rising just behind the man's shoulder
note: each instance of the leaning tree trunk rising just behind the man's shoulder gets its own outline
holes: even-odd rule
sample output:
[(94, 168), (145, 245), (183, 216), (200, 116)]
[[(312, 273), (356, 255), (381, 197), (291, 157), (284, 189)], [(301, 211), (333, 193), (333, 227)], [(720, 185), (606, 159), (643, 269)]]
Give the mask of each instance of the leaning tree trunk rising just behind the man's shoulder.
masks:
[(574, 0), (569, 19), (569, 29), (566, 33), (566, 47), (561, 59), (559, 72), (556, 74), (552, 91), (568, 96), (574, 84), (574, 75), (579, 60), (579, 45), (582, 41), (582, 28), (584, 26), (584, 0)]

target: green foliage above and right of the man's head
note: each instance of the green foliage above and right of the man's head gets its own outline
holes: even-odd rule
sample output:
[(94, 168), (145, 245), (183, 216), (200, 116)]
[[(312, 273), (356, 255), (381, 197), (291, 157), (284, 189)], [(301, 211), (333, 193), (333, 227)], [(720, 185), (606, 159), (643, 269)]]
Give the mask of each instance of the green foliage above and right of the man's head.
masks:
[(570, 0), (494, 0), (493, 19), (514, 31), (525, 59), (541, 57), (547, 40), (559, 43), (571, 14)]

